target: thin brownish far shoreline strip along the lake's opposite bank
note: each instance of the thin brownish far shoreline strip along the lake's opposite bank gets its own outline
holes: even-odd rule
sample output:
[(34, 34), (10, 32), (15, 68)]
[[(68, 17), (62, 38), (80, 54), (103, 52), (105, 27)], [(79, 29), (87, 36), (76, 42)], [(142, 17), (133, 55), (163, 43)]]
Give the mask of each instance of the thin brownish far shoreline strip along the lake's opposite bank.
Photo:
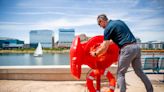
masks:
[[(146, 53), (164, 53), (164, 50), (141, 50)], [(69, 53), (69, 49), (65, 50), (43, 50), (44, 53)], [(0, 50), (0, 53), (34, 53), (34, 50)]]

